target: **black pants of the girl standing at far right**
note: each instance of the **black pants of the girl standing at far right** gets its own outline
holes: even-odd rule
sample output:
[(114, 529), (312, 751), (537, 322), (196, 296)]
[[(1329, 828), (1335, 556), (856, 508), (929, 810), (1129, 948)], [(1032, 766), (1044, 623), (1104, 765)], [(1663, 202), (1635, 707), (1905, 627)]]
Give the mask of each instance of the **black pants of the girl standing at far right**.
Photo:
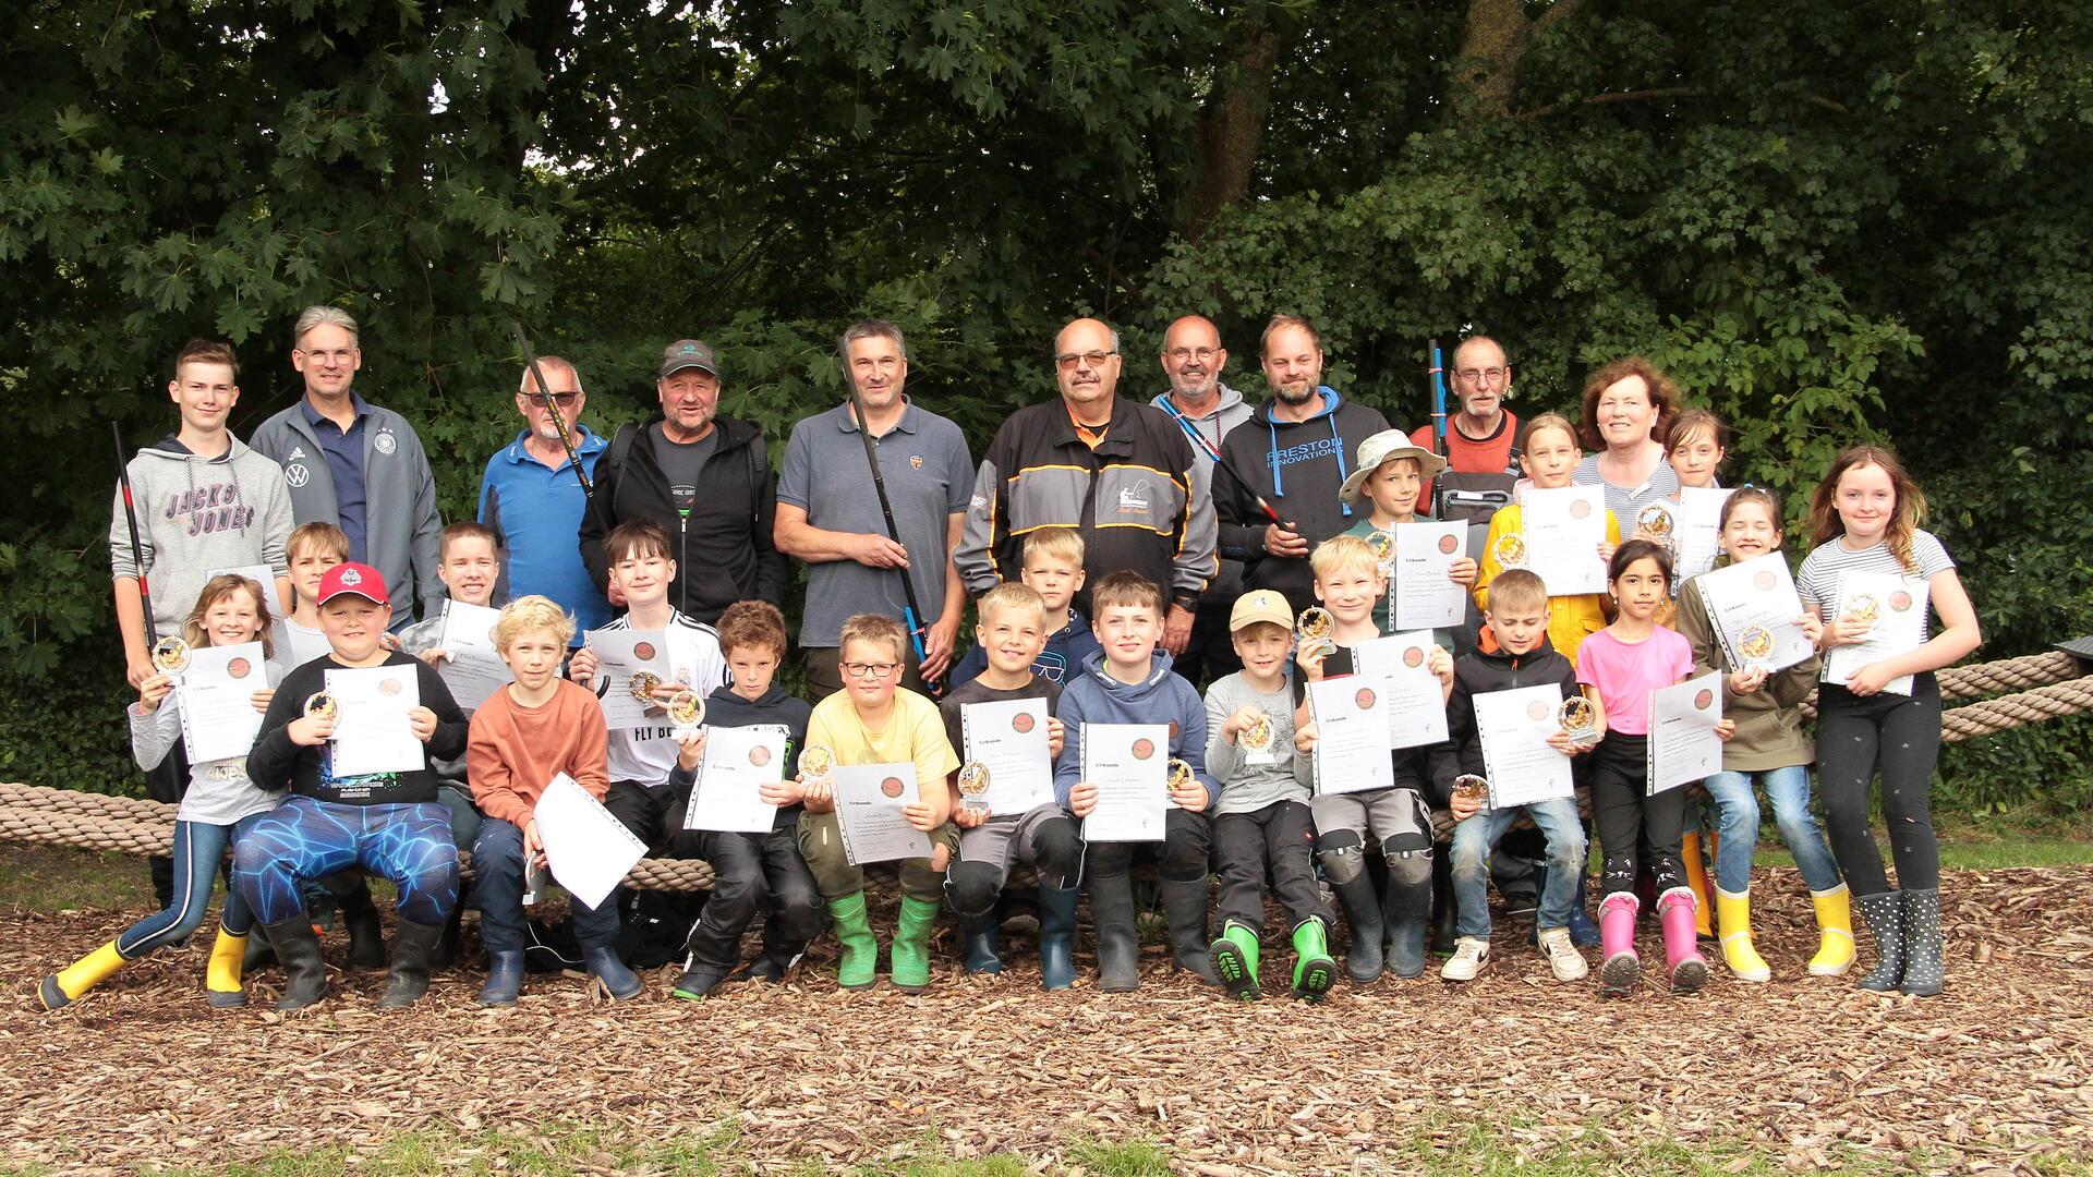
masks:
[(1917, 674), (1911, 695), (1861, 697), (1825, 683), (1817, 693), (1817, 792), (1825, 798), (1831, 854), (1854, 894), (1882, 894), (1890, 878), (1867, 821), (1867, 787), (1882, 771), (1882, 817), (1896, 857), (1896, 886), (1940, 886), (1934, 838), (1934, 762), (1940, 760), (1940, 683)]

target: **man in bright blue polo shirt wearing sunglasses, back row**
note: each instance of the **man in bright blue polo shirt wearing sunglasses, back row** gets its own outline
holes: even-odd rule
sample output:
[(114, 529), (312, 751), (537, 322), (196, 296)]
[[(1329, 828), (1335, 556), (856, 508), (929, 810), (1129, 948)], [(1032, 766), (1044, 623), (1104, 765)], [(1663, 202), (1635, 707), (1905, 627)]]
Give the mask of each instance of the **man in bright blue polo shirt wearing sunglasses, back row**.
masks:
[(567, 459), (559, 427), (567, 425), (573, 454), (582, 459), (582, 475), (588, 478), (597, 475), (603, 438), (582, 425), (582, 410), (588, 408), (582, 373), (559, 356), (538, 356), (538, 371), (553, 387), (538, 387), (530, 367), (523, 369), (515, 398), (523, 431), (488, 459), (488, 471), (479, 478), (479, 521), (494, 528), (502, 551), (502, 578), (494, 599), (515, 601), (534, 593), (550, 597), (573, 614), (573, 645), (580, 645), (586, 630), (611, 622), (611, 603), (588, 578), (582, 549), (573, 542), (588, 494), (582, 492), (582, 478)]

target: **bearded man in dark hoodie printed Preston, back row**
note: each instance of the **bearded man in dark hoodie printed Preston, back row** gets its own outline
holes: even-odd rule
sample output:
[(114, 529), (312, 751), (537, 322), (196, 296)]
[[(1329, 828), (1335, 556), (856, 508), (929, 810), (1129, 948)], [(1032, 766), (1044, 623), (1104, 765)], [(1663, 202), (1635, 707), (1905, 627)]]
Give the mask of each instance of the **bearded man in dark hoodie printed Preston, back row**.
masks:
[[(1388, 419), (1323, 385), (1323, 339), (1306, 318), (1275, 314), (1258, 352), (1273, 398), (1222, 442), (1229, 465), (1214, 475), (1214, 513), (1222, 555), (1243, 561), (1243, 586), (1277, 588), (1298, 614), (1314, 605), (1308, 549), (1352, 526), (1337, 490), (1358, 442), (1388, 429)], [(1266, 519), (1254, 494), (1285, 521)]]

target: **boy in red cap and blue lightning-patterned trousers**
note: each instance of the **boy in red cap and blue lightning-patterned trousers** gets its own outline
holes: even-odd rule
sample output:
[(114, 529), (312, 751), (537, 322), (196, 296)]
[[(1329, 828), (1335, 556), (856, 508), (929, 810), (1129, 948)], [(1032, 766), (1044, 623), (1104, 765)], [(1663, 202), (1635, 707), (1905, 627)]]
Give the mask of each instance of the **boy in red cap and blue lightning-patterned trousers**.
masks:
[(412, 1005), (429, 989), (429, 951), (435, 949), (458, 901), (458, 846), (450, 815), (435, 800), (435, 773), (337, 777), (333, 771), (335, 716), (306, 714), (312, 695), (327, 689), (331, 668), (400, 666), (414, 674), (421, 706), (408, 729), (425, 756), (465, 752), (465, 712), (450, 689), (419, 660), (387, 651), (391, 601), (385, 578), (368, 563), (337, 563), (320, 578), (320, 626), (331, 653), (291, 670), (276, 685), (262, 733), (247, 754), (247, 775), (264, 790), (291, 790), (291, 798), (255, 821), (232, 857), (232, 882), (268, 932), (285, 970), (278, 1009), (303, 1009), (327, 997), (320, 940), (306, 917), (303, 880), (364, 867), (400, 886), (400, 928), (393, 936), (391, 976), (381, 1009)]

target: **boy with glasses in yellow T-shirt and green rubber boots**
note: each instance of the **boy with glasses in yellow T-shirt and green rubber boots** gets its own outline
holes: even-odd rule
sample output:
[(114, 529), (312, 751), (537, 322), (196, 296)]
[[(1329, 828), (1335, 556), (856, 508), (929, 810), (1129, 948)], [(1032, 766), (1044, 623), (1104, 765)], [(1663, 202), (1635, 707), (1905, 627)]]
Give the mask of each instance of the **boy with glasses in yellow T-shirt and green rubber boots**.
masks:
[[(952, 859), (959, 831), (950, 825), (952, 790), (946, 779), (959, 769), (952, 741), (944, 737), (938, 704), (904, 691), (900, 672), (908, 658), (908, 632), (894, 618), (858, 614), (837, 635), (843, 689), (823, 699), (806, 725), (810, 748), (827, 748), (837, 764), (915, 764), (917, 804), (908, 825), (929, 834), (929, 859), (902, 861), (902, 911), (894, 924), (890, 955), (894, 989), (923, 993), (929, 986), (929, 932), (938, 921), (944, 867)], [(843, 989), (871, 989), (879, 970), (879, 940), (864, 915), (864, 869), (843, 852), (835, 792), (825, 777), (800, 781), (806, 813), (800, 817), (800, 854), (835, 921), (841, 947), (835, 980)]]

